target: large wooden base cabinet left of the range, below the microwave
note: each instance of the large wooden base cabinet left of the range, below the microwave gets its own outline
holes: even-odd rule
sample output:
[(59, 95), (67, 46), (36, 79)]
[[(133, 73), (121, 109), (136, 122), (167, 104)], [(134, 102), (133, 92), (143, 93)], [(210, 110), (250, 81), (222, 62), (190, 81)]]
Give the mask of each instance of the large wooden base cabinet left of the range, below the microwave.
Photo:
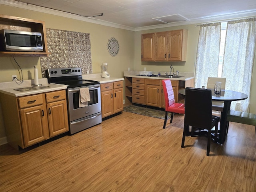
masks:
[(26, 148), (68, 132), (66, 90), (14, 97), (1, 94), (7, 141)]

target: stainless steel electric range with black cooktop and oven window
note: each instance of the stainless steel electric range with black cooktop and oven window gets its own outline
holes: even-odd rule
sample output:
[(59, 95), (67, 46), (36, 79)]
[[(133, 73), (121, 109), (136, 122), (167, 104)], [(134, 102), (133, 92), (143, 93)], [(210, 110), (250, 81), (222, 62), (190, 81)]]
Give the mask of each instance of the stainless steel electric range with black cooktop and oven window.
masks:
[[(48, 83), (67, 85), (68, 119), (70, 134), (75, 134), (101, 120), (100, 82), (83, 80), (81, 68), (54, 68), (46, 70)], [(90, 101), (88, 106), (79, 107), (80, 88), (88, 87)]]

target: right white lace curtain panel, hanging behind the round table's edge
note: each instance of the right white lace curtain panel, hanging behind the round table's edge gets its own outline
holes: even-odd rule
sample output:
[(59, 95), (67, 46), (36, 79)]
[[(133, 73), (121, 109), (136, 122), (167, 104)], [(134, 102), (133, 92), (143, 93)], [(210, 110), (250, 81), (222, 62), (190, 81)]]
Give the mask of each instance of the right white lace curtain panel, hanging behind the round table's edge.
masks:
[(256, 43), (256, 18), (227, 24), (222, 76), (226, 89), (243, 92), (248, 99), (231, 102), (231, 109), (248, 111)]

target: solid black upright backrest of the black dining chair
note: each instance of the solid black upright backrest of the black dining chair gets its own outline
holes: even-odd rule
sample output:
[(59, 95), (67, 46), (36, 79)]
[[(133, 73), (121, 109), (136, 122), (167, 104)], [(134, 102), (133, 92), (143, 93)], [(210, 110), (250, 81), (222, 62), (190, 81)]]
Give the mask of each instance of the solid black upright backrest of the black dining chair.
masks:
[(212, 91), (210, 89), (186, 88), (184, 124), (197, 128), (212, 125)]

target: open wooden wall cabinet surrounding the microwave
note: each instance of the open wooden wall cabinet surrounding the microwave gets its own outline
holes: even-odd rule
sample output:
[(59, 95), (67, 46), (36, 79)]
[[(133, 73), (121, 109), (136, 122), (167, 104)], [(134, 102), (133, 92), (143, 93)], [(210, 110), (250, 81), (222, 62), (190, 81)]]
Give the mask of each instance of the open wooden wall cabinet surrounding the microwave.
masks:
[(13, 57), (13, 56), (47, 56), (47, 40), (46, 40), (46, 30), (44, 21), (0, 15), (0, 30), (18, 30), (18, 31), (30, 31), (30, 32), (40, 32), (42, 34), (43, 40), (43, 51), (42, 52), (22, 52), (22, 51), (0, 51), (0, 56)]

